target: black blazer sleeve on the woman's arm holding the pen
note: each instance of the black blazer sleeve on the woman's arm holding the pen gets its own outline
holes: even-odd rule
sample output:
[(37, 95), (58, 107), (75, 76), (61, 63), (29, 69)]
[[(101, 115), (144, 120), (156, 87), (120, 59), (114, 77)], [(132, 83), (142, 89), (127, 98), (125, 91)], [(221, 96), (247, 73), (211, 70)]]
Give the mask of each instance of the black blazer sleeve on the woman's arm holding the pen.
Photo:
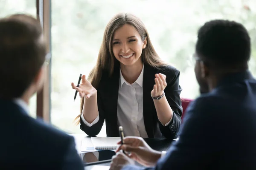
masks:
[(83, 120), (80, 117), (80, 129), (83, 130), (88, 136), (98, 135), (105, 120), (105, 112), (99, 90), (97, 91), (97, 102), (99, 111), (99, 121), (96, 124), (89, 127), (84, 124)]

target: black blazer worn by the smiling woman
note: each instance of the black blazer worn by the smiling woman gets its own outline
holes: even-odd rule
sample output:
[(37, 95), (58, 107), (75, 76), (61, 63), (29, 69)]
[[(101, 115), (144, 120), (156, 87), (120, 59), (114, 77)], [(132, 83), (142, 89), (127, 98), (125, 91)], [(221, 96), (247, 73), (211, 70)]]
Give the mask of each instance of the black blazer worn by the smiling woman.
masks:
[[(99, 122), (88, 127), (81, 120), (80, 128), (89, 136), (96, 136), (106, 120), (107, 136), (119, 136), (117, 125), (117, 98), (119, 91), (120, 71), (119, 65), (114, 68), (113, 75), (108, 76), (108, 72), (102, 74), (99, 87), (97, 88)], [(163, 126), (157, 118), (157, 112), (154, 107), (151, 91), (155, 84), (155, 74), (162, 73), (166, 75), (167, 86), (164, 90), (166, 99), (173, 110), (173, 118), (168, 126)], [(152, 68), (144, 65), (143, 74), (143, 116), (145, 130), (149, 138), (159, 137), (156, 131), (160, 129), (162, 138), (176, 138), (180, 129), (182, 106), (180, 101), (181, 88), (179, 85), (180, 72), (172, 67), (166, 66), (161, 69)]]

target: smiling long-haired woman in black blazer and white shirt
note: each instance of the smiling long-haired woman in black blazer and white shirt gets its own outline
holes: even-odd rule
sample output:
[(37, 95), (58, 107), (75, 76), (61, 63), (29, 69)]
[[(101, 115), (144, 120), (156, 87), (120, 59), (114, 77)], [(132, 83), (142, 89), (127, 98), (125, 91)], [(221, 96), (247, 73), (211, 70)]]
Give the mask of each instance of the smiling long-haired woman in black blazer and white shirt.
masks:
[[(145, 74), (144, 74), (145, 73)], [(96, 66), (72, 88), (81, 97), (81, 130), (96, 136), (176, 138), (181, 122), (179, 71), (154, 50), (142, 21), (117, 14), (108, 23)]]

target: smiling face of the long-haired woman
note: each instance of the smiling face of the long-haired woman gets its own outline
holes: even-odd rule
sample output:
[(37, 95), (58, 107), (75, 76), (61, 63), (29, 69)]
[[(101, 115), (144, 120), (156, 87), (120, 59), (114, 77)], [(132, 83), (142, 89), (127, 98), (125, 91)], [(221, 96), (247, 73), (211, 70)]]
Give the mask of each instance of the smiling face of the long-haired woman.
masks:
[(141, 62), (140, 56), (146, 44), (146, 38), (142, 41), (138, 31), (125, 24), (114, 32), (112, 50), (121, 65), (134, 65), (138, 61)]

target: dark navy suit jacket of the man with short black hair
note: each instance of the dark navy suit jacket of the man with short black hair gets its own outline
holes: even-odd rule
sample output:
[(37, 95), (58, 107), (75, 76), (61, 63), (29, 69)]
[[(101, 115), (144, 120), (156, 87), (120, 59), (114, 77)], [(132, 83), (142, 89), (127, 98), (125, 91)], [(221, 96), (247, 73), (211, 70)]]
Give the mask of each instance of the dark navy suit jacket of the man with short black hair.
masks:
[(150, 169), (256, 170), (256, 80), (250, 72), (225, 77), (192, 102), (179, 136)]

